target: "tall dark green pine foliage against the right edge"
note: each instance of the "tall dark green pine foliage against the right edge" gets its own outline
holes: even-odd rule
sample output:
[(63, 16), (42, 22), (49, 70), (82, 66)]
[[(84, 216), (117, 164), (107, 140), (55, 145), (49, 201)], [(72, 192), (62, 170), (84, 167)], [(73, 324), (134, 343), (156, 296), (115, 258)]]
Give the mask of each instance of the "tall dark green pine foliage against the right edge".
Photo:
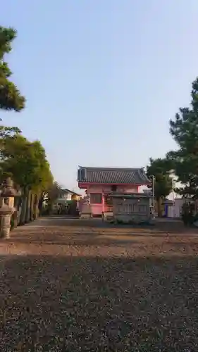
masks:
[(167, 154), (182, 184), (177, 192), (198, 198), (198, 78), (192, 83), (190, 108), (180, 108), (170, 121), (170, 132), (178, 144), (178, 151)]

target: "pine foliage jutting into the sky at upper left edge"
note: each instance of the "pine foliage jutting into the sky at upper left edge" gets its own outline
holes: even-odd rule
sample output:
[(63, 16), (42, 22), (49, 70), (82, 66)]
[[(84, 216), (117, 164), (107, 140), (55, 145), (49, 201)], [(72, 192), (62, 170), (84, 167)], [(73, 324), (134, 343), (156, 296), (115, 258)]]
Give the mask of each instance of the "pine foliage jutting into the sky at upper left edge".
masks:
[(22, 96), (16, 84), (9, 80), (11, 70), (4, 61), (5, 54), (12, 49), (13, 39), (16, 38), (16, 30), (0, 26), (0, 109), (20, 111), (25, 107), (25, 97)]

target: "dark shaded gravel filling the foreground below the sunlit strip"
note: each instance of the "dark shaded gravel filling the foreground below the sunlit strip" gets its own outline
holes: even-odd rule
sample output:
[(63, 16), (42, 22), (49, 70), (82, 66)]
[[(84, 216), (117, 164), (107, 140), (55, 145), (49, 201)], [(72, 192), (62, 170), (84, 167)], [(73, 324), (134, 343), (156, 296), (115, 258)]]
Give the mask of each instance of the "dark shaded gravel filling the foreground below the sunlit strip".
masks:
[(0, 350), (197, 351), (197, 265), (192, 257), (7, 257)]

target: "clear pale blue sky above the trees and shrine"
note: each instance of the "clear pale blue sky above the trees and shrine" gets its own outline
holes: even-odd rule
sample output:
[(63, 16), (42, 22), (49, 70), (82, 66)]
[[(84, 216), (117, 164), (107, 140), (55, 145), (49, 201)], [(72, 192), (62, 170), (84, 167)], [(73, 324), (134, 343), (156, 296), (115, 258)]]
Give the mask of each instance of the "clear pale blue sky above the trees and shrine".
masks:
[(78, 165), (146, 165), (175, 147), (168, 120), (198, 75), (197, 18), (197, 0), (3, 1), (27, 106), (1, 117), (42, 141), (68, 188)]

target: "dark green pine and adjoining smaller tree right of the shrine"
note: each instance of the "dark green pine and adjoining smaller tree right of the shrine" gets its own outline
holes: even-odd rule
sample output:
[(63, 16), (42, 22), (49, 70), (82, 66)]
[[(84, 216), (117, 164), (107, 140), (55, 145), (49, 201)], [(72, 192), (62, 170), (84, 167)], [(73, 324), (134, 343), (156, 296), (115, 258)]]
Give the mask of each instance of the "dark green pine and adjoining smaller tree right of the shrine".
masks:
[(184, 197), (198, 199), (198, 77), (192, 82), (190, 106), (180, 108), (169, 126), (178, 149), (168, 151), (164, 159), (151, 158), (147, 167), (147, 175), (156, 178), (156, 199), (171, 191), (171, 172), (181, 185), (175, 191)]

